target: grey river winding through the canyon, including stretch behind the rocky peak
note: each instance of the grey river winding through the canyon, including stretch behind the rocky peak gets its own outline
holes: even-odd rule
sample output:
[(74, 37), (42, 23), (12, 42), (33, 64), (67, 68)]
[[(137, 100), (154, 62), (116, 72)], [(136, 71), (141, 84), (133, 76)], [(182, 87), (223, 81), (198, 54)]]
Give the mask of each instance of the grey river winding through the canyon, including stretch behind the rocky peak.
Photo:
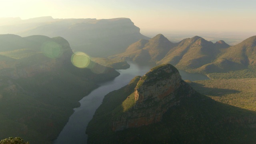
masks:
[[(150, 70), (150, 66), (140, 66), (133, 62), (128, 62), (130, 68), (126, 70), (118, 70), (120, 75), (114, 80), (100, 83), (99, 87), (93, 90), (90, 94), (80, 100), (81, 106), (74, 108), (74, 113), (70, 116), (68, 123), (60, 132), (54, 144), (86, 144), (87, 135), (85, 134), (86, 126), (92, 119), (94, 112), (102, 103), (106, 94), (113, 90), (122, 88), (132, 80), (135, 76), (143, 76)], [(191, 74), (185, 71), (180, 71), (183, 80), (207, 80), (207, 76), (202, 74)]]

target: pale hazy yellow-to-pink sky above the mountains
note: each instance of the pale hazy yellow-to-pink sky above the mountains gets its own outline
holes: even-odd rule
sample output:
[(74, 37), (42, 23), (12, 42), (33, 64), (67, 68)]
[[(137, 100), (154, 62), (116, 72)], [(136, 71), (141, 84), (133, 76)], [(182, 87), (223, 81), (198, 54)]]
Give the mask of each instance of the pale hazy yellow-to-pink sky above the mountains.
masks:
[(256, 32), (256, 0), (0, 0), (0, 17), (130, 18), (141, 31)]

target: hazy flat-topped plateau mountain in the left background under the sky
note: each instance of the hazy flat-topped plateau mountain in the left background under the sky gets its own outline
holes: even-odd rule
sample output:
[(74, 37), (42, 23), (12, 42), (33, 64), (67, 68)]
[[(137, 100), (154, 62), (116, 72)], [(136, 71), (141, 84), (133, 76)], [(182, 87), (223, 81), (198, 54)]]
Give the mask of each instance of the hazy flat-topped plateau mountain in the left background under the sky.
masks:
[[(2, 23), (2, 24), (1, 24)], [(129, 18), (54, 19), (51, 16), (21, 20), (0, 19), (0, 33), (20, 36), (61, 36), (68, 40), (74, 52), (92, 57), (107, 57), (125, 51), (130, 44), (149, 39)]]

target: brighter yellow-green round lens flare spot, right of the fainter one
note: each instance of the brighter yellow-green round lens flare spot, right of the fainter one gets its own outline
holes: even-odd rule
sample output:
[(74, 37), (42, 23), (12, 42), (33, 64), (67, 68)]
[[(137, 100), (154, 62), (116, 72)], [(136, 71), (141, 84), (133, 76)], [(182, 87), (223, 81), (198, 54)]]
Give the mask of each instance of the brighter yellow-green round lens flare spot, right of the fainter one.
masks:
[(83, 52), (75, 52), (71, 57), (71, 62), (78, 68), (86, 68), (90, 64), (90, 57)]

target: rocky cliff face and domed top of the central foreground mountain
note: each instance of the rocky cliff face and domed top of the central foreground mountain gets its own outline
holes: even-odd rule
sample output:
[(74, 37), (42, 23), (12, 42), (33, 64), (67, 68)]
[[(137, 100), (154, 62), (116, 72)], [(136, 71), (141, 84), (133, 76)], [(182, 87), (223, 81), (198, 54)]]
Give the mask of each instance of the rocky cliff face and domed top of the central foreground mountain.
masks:
[[(182, 88), (186, 92), (182, 93)], [(112, 122), (112, 130), (124, 130), (160, 122), (163, 114), (179, 105), (181, 97), (195, 91), (171, 64), (157, 66), (140, 78), (134, 92), (134, 106)]]

